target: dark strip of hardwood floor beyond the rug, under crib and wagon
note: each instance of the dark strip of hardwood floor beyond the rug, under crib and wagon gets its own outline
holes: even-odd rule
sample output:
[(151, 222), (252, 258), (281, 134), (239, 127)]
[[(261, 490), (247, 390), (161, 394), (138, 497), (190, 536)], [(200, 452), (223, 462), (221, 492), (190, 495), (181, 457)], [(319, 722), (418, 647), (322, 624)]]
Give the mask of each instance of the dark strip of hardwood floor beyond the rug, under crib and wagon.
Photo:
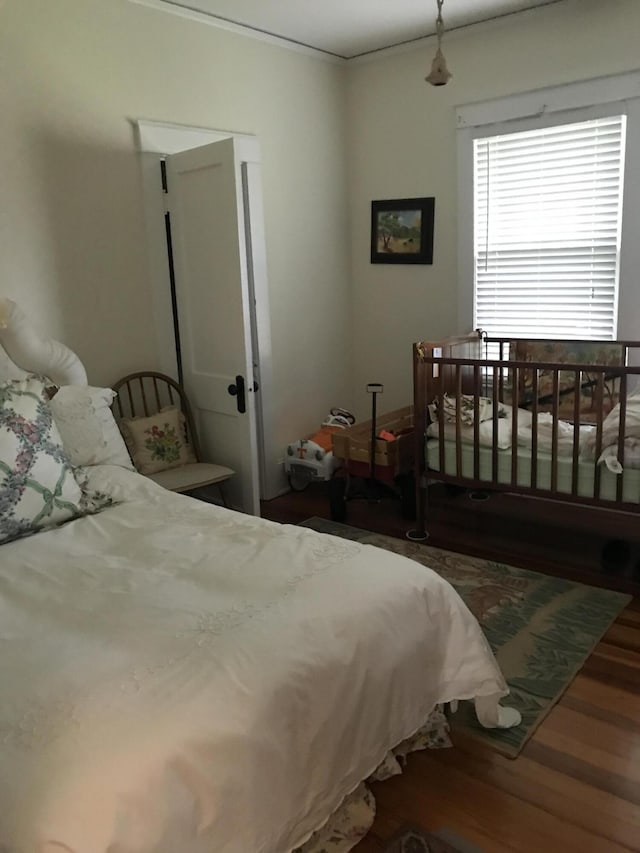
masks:
[[(328, 484), (312, 483), (263, 502), (262, 514), (289, 524), (329, 518)], [(429, 489), (426, 527), (429, 544), (439, 548), (640, 595), (639, 522), (638, 516), (585, 507), (572, 511), (565, 505), (559, 512), (550, 501), (518, 495), (472, 500), (466, 490), (437, 484)], [(348, 501), (346, 523), (400, 538), (416, 526), (401, 517), (393, 499)], [(616, 549), (621, 541), (626, 547)]]

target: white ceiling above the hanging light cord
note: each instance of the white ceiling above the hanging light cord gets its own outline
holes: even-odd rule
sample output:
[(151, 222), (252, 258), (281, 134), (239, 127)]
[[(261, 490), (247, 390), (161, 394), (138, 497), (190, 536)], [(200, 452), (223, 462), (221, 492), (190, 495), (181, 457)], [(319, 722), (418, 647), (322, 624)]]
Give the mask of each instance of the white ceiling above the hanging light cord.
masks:
[[(445, 30), (565, 0), (444, 0)], [(211, 23), (277, 36), (343, 59), (435, 33), (436, 0), (156, 0), (172, 11), (198, 12)]]

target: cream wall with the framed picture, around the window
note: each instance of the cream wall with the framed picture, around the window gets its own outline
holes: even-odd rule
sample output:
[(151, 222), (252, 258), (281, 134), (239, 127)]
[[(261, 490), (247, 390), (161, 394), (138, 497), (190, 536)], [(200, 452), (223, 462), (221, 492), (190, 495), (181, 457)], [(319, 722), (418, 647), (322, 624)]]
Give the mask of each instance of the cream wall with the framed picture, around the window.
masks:
[[(446, 24), (446, 4), (443, 11)], [(454, 76), (444, 87), (424, 82), (433, 41), (349, 67), (358, 414), (369, 406), (367, 382), (384, 383), (386, 409), (410, 401), (413, 341), (466, 331), (458, 328), (457, 313), (456, 106), (636, 69), (639, 32), (637, 0), (566, 0), (445, 35)], [(433, 265), (371, 265), (371, 200), (431, 195)], [(635, 282), (630, 277), (625, 283), (637, 291)], [(629, 336), (640, 325), (636, 305), (633, 322), (627, 317)], [(637, 331), (633, 336), (640, 337)]]

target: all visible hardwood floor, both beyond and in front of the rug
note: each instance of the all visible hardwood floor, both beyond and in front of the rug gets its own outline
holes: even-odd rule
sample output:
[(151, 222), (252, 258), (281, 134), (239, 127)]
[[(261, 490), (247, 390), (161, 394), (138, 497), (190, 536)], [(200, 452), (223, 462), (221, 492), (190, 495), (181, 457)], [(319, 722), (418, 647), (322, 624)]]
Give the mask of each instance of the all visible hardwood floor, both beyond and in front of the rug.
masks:
[[(523, 514), (513, 501), (473, 505), (466, 495), (434, 494), (429, 543), (638, 592), (637, 532), (611, 530), (610, 538), (630, 542), (611, 566), (603, 559), (607, 536), (580, 524), (561, 527), (548, 508)], [(292, 524), (328, 517), (326, 484), (264, 503), (263, 515)], [(401, 537), (412, 526), (393, 501), (350, 501), (347, 523)], [(381, 853), (407, 824), (446, 828), (483, 853), (640, 851), (640, 599), (518, 758), (456, 734), (453, 749), (414, 753), (401, 776), (372, 788), (376, 819), (356, 853)]]

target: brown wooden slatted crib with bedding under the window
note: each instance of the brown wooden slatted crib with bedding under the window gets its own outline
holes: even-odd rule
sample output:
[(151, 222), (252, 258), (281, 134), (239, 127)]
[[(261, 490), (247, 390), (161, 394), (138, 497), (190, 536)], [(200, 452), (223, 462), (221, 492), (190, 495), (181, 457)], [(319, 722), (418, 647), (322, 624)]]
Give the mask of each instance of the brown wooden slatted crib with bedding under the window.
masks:
[(417, 538), (427, 481), (640, 511), (640, 343), (496, 338), (413, 346)]

